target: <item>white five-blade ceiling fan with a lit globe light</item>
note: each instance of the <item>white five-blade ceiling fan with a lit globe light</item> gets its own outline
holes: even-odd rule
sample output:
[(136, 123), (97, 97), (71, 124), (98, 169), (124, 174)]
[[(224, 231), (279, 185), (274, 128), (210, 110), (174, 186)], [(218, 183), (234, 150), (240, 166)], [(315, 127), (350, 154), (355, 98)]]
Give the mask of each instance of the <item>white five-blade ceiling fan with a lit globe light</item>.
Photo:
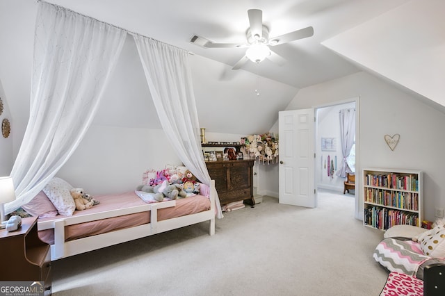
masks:
[(246, 31), (246, 44), (236, 43), (214, 43), (206, 38), (193, 35), (191, 42), (200, 44), (207, 48), (245, 48), (245, 56), (238, 60), (232, 69), (240, 69), (248, 61), (252, 60), (254, 63), (260, 63), (265, 58), (272, 60), (277, 65), (284, 65), (286, 59), (271, 50), (269, 46), (280, 45), (286, 42), (295, 41), (302, 38), (311, 37), (314, 35), (314, 28), (308, 26), (297, 31), (286, 33), (274, 38), (269, 38), (269, 29), (263, 24), (263, 12), (259, 9), (248, 10), (248, 17), (250, 28)]

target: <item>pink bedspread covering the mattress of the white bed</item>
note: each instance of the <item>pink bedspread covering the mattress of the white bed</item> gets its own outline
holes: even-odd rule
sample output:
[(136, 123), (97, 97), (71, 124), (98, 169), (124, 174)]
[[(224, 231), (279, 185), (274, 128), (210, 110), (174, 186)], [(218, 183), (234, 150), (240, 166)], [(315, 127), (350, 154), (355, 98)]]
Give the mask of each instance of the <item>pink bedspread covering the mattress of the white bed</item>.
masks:
[[(145, 204), (134, 192), (125, 192), (120, 195), (97, 195), (94, 197), (100, 204), (83, 211), (74, 211), (73, 216), (87, 215), (90, 213), (99, 213), (102, 211), (114, 210), (116, 208), (127, 208), (130, 206), (140, 206)], [(176, 206), (170, 208), (161, 208), (158, 210), (158, 221), (181, 217), (193, 213), (200, 213), (210, 209), (210, 200), (202, 195), (195, 195), (185, 199), (177, 199)], [(42, 218), (38, 221), (58, 220), (63, 215), (56, 217)], [(103, 220), (85, 222), (65, 227), (65, 241), (76, 240), (87, 236), (95, 236), (108, 231), (136, 227), (138, 225), (150, 222), (150, 213), (134, 213), (119, 217), (112, 217)], [(39, 238), (49, 245), (54, 244), (54, 229), (39, 231)]]

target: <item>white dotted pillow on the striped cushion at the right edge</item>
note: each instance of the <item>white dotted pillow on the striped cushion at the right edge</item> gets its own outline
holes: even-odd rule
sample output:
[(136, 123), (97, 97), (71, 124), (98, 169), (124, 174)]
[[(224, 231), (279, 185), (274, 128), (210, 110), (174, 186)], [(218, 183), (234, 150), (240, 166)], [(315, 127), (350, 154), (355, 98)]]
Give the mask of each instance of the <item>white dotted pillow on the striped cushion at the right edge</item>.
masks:
[(422, 233), (419, 243), (423, 254), (432, 258), (445, 258), (445, 226), (438, 225)]

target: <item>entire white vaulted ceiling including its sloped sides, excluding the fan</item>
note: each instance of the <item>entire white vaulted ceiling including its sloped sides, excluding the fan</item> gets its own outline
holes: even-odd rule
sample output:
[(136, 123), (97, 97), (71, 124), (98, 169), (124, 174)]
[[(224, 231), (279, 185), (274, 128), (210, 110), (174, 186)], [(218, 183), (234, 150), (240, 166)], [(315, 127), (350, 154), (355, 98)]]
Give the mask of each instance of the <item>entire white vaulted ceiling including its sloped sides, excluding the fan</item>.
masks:
[[(284, 110), (301, 88), (360, 71), (445, 105), (443, 0), (47, 2), (190, 51), (200, 122), (210, 131), (268, 131), (277, 112)], [(0, 82), (17, 117), (29, 112), (36, 7), (32, 0), (0, 1)], [(314, 35), (273, 47), (286, 59), (284, 65), (248, 61), (238, 70), (232, 67), (245, 49), (209, 49), (190, 42), (193, 35), (199, 35), (211, 42), (245, 43), (248, 10), (252, 8), (262, 10), (270, 36), (307, 26), (314, 28)], [(147, 86), (130, 42), (122, 56), (117, 67), (120, 76), (113, 77), (104, 98), (108, 108), (99, 110), (96, 122), (146, 126), (147, 118), (156, 115), (152, 106), (140, 102), (147, 97)], [(133, 71), (139, 72), (140, 78), (129, 75)], [(254, 90), (261, 95), (256, 96)], [(129, 109), (141, 104), (144, 108)], [(26, 116), (19, 128), (24, 126)]]

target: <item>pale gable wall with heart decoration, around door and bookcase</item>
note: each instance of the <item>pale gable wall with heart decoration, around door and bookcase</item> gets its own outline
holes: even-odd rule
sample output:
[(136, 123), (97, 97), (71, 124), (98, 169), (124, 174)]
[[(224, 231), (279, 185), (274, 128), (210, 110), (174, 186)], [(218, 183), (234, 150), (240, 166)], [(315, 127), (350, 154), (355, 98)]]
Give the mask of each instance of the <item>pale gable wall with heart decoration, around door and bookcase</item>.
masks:
[[(445, 115), (421, 103), (407, 92), (381, 79), (360, 72), (341, 79), (303, 88), (286, 110), (323, 106), (359, 97), (359, 165), (423, 170), (424, 215), (435, 220), (435, 206), (445, 208), (445, 183), (442, 147), (445, 145)], [(394, 151), (384, 135), (399, 133), (401, 140)], [(357, 170), (359, 168), (357, 167)], [(268, 176), (271, 191), (278, 191), (278, 174)], [(359, 191), (359, 213), (363, 192)]]

